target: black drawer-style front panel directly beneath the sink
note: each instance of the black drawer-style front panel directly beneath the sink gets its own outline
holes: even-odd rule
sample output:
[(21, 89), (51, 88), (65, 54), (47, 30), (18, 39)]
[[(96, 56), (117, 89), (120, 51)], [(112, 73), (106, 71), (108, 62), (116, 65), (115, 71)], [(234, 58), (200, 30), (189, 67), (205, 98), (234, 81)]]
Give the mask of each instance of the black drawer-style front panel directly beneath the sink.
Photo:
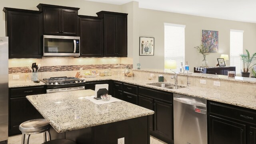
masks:
[(159, 91), (159, 90), (152, 90), (149, 88), (143, 88), (143, 87), (139, 87), (139, 96), (146, 96), (146, 97), (150, 97), (150, 98), (154, 98), (157, 100), (162, 100), (162, 101), (166, 101), (166, 102), (171, 102), (172, 103), (172, 99), (173, 99), (173, 93), (171, 92), (163, 92), (163, 91)]

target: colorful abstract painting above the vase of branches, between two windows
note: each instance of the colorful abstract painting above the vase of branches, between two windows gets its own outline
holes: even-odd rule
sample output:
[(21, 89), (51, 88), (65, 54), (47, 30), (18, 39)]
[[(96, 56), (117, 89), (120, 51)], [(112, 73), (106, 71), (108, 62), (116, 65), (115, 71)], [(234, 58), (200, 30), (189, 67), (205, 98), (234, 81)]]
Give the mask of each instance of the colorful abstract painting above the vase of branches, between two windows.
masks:
[(218, 31), (213, 30), (202, 30), (202, 44), (209, 48), (209, 52), (216, 53), (219, 51), (218, 48)]

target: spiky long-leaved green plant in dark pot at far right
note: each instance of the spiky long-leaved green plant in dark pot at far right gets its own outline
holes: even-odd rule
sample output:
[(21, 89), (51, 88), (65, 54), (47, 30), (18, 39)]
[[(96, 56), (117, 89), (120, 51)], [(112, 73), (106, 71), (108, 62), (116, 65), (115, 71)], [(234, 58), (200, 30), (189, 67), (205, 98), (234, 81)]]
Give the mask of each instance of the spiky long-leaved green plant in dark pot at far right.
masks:
[(243, 60), (243, 71), (242, 73), (242, 77), (248, 77), (250, 76), (250, 68), (252, 68), (253, 66), (256, 65), (256, 63), (254, 63), (254, 61), (256, 60), (256, 53), (252, 54), (252, 56), (250, 56), (250, 53), (248, 52), (248, 50), (245, 50), (246, 54), (240, 54), (242, 60)]

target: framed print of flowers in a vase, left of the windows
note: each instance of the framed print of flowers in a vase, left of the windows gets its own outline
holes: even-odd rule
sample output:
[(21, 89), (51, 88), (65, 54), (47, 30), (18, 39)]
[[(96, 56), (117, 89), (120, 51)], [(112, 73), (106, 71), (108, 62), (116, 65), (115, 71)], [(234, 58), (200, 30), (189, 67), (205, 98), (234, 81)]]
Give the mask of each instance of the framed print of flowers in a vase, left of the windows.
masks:
[(154, 38), (140, 37), (140, 56), (154, 56)]

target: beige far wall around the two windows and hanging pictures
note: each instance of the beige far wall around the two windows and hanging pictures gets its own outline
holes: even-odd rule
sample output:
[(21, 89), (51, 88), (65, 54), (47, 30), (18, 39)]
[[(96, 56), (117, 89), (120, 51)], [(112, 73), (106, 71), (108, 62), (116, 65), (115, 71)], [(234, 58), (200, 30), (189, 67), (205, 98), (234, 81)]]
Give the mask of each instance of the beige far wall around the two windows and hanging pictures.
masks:
[[(256, 52), (256, 24), (162, 12), (156, 10), (139, 9), (139, 36), (155, 38), (154, 56), (139, 56), (143, 68), (164, 68), (164, 23), (182, 24), (185, 28), (185, 61), (190, 70), (201, 66), (202, 54), (194, 46), (201, 44), (202, 30), (216, 30), (219, 32), (219, 52), (206, 56), (210, 66), (216, 66), (217, 58), (221, 54), (230, 54), (230, 29), (244, 30), (244, 49), (250, 53)], [(244, 50), (245, 52), (245, 50)], [(227, 61), (227, 65), (230, 64)]]

